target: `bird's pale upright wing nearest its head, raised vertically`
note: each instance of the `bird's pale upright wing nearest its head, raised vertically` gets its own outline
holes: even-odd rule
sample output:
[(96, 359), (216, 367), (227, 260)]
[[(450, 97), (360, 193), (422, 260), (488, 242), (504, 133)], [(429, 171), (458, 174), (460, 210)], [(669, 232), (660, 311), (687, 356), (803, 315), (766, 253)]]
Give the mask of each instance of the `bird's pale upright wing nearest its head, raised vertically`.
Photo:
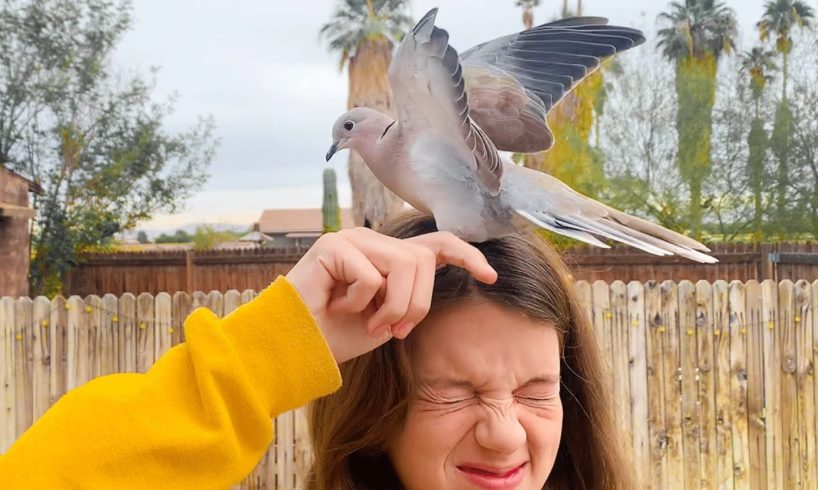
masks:
[[(472, 122), (463, 70), (432, 9), (404, 37), (389, 66), (398, 118), (407, 134), (431, 130), (459, 152), (486, 189), (497, 194), (503, 165), (497, 148)], [(457, 164), (457, 163), (455, 163)]]

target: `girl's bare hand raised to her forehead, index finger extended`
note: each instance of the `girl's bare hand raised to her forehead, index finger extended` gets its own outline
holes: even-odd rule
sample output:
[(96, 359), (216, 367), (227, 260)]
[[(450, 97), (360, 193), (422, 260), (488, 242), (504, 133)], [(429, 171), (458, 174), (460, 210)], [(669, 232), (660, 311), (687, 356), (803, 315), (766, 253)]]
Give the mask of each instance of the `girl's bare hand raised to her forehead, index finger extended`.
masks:
[(497, 280), (483, 254), (451, 233), (405, 240), (368, 228), (323, 235), (287, 274), (339, 363), (406, 338), (429, 312), (435, 270), (462, 267)]

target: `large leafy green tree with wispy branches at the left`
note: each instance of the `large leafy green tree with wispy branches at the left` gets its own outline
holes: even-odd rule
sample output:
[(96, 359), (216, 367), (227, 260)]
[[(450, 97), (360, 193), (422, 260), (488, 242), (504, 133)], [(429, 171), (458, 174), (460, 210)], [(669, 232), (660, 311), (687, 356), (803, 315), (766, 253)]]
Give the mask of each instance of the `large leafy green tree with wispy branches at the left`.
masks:
[(153, 81), (114, 73), (131, 25), (126, 0), (6, 0), (0, 6), (0, 158), (39, 182), (33, 294), (60, 290), (78, 253), (155, 212), (172, 212), (206, 179), (213, 123), (163, 128), (172, 101)]

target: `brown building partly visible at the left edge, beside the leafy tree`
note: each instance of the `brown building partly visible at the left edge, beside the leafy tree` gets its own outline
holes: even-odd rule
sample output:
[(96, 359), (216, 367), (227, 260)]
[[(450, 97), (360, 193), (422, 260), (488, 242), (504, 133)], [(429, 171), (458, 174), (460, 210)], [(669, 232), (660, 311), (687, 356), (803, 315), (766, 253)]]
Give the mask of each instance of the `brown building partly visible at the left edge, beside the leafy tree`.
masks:
[(42, 194), (43, 189), (0, 166), (0, 296), (28, 296), (32, 192)]

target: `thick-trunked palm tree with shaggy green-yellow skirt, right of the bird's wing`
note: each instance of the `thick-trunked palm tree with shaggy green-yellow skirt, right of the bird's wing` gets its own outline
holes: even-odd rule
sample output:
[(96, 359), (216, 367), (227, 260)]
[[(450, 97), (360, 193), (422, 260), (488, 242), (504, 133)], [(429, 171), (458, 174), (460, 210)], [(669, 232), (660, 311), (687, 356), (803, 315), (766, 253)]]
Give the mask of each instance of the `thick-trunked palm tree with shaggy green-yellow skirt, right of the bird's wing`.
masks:
[(659, 30), (663, 55), (676, 63), (676, 131), (679, 150), (676, 164), (690, 190), (690, 226), (701, 238), (702, 184), (710, 166), (716, 68), (723, 53), (733, 49), (736, 18), (718, 0), (671, 2), (670, 12), (659, 19), (670, 25)]

